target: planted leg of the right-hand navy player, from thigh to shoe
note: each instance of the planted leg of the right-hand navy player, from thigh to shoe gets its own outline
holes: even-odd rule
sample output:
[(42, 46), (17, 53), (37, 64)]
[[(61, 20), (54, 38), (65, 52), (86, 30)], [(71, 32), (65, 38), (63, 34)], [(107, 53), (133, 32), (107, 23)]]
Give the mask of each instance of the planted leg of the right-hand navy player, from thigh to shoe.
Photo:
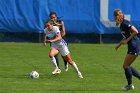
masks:
[(134, 60), (136, 59), (136, 55), (131, 55), (131, 54), (127, 54), (124, 60), (124, 64), (123, 64), (123, 68), (125, 71), (125, 76), (128, 82), (128, 85), (122, 87), (123, 90), (130, 90), (130, 89), (134, 89), (134, 86), (132, 84), (132, 70), (130, 65), (134, 62)]

